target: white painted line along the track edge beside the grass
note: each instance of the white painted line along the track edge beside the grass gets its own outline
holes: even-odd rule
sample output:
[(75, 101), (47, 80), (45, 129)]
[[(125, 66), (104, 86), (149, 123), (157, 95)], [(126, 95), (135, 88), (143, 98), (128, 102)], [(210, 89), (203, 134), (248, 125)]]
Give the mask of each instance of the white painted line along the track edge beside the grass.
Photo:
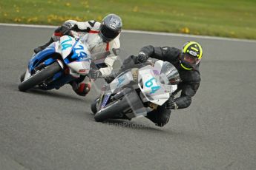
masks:
[[(0, 23), (0, 26), (8, 27), (34, 27), (34, 28), (56, 28), (57, 26), (50, 25), (35, 25), (35, 24), (5, 24)], [(213, 39), (213, 40), (224, 40), (224, 41), (240, 41), (240, 42), (249, 42), (256, 43), (256, 40), (249, 39), (238, 39), (238, 38), (224, 38), (224, 37), (215, 37), (207, 35), (186, 35), (179, 33), (160, 33), (160, 32), (150, 32), (150, 31), (139, 31), (139, 30), (122, 30), (124, 33), (138, 33), (138, 34), (149, 34), (149, 35), (167, 35), (167, 36), (177, 36), (177, 37), (188, 37), (188, 38), (203, 38), (203, 39)]]

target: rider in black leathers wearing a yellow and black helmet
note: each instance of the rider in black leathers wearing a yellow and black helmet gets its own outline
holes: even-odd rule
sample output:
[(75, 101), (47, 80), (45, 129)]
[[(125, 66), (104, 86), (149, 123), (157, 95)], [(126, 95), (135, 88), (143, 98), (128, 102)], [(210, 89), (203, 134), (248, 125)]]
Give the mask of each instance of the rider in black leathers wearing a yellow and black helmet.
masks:
[[(199, 65), (202, 54), (203, 50), (200, 44), (189, 41), (183, 45), (183, 50), (174, 47), (145, 46), (142, 47), (138, 56), (131, 55), (125, 59), (124, 65), (130, 65), (129, 67), (132, 65), (131, 61), (138, 64), (147, 61), (148, 58), (168, 61), (177, 68), (180, 74), (182, 82), (178, 84), (178, 88), (171, 98), (163, 106), (158, 106), (157, 110), (148, 112), (146, 118), (156, 123), (157, 126), (164, 126), (168, 123), (171, 109), (184, 109), (190, 106), (191, 98), (200, 86)], [(180, 97), (174, 98), (174, 95), (180, 91)]]

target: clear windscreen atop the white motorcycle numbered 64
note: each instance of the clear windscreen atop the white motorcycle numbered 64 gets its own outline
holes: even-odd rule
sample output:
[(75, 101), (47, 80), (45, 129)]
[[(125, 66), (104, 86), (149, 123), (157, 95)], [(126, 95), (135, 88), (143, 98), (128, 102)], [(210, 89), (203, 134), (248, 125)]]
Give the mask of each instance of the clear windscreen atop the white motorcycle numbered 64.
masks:
[(162, 84), (175, 85), (180, 83), (180, 75), (174, 65), (167, 61), (163, 62), (160, 72), (160, 82)]

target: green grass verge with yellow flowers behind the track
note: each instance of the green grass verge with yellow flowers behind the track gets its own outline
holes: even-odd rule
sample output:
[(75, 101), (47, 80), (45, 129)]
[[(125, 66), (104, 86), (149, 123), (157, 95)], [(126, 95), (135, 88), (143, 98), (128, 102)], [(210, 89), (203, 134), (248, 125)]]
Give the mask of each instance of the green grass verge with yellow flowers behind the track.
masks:
[(126, 30), (256, 39), (256, 0), (1, 0), (0, 22), (59, 25), (122, 17)]

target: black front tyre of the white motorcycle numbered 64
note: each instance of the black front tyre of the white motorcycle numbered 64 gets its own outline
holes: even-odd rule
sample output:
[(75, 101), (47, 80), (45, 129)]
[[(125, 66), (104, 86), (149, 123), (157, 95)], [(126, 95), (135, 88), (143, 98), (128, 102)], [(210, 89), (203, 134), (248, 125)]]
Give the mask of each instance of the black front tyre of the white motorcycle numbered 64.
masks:
[[(126, 97), (118, 101), (114, 101), (114, 103), (111, 103), (109, 106), (106, 106), (105, 108), (99, 110), (99, 112), (96, 112), (94, 119), (97, 122), (102, 122), (107, 119), (116, 118), (116, 115), (119, 115), (125, 109), (131, 107), (129, 103), (137, 102), (137, 98), (134, 98), (136, 95), (137, 94), (134, 94), (133, 92), (126, 94)], [(129, 102), (127, 100), (129, 100)]]

